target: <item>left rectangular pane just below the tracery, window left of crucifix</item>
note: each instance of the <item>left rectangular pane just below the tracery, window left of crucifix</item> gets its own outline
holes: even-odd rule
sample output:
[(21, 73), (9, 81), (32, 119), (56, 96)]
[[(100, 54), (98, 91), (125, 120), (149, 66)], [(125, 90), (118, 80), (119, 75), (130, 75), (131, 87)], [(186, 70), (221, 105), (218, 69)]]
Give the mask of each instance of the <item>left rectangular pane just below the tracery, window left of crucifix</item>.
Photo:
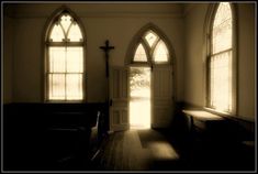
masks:
[(66, 72), (66, 48), (49, 47), (49, 72), (64, 73)]

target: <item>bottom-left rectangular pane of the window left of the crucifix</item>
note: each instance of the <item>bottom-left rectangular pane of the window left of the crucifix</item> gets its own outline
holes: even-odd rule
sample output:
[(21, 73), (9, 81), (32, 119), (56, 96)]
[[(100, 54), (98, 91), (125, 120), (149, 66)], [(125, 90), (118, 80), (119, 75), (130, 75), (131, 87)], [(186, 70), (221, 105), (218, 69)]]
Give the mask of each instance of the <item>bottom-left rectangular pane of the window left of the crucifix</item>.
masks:
[(65, 74), (49, 74), (49, 99), (65, 99)]

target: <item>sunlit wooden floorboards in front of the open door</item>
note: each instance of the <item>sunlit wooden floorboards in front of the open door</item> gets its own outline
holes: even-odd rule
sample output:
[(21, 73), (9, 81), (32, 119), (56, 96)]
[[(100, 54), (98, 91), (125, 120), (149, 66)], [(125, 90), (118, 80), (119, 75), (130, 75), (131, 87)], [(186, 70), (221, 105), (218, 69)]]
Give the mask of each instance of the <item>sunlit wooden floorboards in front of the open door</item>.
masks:
[(128, 130), (110, 135), (99, 159), (102, 170), (146, 171), (158, 161), (178, 161), (179, 155), (157, 131)]

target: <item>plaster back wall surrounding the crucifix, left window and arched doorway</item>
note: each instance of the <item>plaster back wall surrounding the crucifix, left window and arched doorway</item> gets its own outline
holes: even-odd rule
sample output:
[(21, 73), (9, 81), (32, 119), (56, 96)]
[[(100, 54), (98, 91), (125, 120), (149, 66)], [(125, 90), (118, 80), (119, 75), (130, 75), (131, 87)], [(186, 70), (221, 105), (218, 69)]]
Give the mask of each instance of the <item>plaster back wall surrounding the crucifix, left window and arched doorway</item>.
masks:
[[(61, 4), (13, 4), (13, 98), (14, 102), (44, 100), (43, 32), (47, 19)], [(86, 30), (87, 101), (105, 100), (105, 63), (99, 46), (106, 39), (115, 46), (110, 64), (124, 66), (132, 37), (144, 25), (157, 25), (172, 43), (177, 56), (177, 97), (182, 99), (182, 15), (177, 4), (67, 4)], [(4, 28), (5, 30), (5, 28)], [(8, 48), (7, 48), (8, 52)]]

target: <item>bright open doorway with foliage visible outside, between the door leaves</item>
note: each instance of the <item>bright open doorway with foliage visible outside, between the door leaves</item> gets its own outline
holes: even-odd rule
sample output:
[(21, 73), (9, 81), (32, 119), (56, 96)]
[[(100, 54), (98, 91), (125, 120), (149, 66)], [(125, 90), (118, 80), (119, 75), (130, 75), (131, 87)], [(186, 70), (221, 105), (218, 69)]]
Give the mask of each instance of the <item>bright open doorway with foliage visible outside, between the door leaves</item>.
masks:
[(150, 68), (130, 68), (130, 129), (150, 128)]

